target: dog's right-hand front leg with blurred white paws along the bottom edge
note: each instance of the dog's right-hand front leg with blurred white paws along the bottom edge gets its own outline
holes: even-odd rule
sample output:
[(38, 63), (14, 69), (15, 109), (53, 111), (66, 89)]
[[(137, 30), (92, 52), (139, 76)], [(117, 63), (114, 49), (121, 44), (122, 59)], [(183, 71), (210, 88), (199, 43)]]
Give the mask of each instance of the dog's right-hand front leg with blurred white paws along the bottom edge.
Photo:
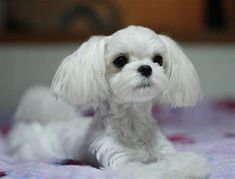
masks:
[[(114, 172), (121, 178), (134, 179), (206, 179), (210, 174), (207, 161), (193, 153), (177, 152), (172, 143), (158, 129), (157, 162), (145, 164), (141, 161), (122, 160)], [(128, 156), (128, 155), (127, 155)]]

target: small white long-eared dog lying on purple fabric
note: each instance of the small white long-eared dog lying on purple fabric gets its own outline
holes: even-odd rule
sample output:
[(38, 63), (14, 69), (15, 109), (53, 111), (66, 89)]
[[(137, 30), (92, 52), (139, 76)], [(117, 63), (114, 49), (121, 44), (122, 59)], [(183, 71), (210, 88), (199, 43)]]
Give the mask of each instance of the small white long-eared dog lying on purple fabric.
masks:
[[(55, 115), (53, 119), (52, 103), (32, 107), (31, 98), (38, 96), (33, 90), (17, 112), (31, 119), (18, 120), (9, 136), (14, 157), (73, 158), (111, 167), (121, 177), (209, 177), (207, 161), (175, 151), (151, 116), (154, 103), (191, 106), (201, 98), (192, 63), (169, 37), (141, 26), (92, 37), (62, 62), (52, 89), (58, 99), (74, 106), (92, 106), (94, 117), (70, 115), (72, 108), (67, 106), (57, 108), (64, 114), (70, 111), (67, 117)], [(39, 101), (42, 96), (55, 100), (44, 92)], [(31, 108), (46, 114), (51, 111), (50, 117), (45, 119), (46, 115), (33, 110), (30, 114)]]

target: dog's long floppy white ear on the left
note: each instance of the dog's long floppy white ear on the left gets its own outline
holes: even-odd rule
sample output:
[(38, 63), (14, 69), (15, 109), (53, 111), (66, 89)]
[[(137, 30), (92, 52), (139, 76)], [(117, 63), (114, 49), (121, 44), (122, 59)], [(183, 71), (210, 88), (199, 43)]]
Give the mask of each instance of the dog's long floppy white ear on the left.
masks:
[(52, 90), (73, 105), (95, 104), (107, 95), (105, 81), (105, 42), (108, 37), (94, 36), (63, 60)]

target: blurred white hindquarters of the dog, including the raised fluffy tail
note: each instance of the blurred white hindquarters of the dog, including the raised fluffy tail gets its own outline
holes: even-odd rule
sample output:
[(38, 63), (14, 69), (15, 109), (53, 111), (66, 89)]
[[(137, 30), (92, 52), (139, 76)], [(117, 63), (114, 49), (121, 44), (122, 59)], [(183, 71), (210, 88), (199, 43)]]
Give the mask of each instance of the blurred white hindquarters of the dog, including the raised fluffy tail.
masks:
[(8, 134), (9, 155), (17, 160), (80, 159), (92, 118), (57, 100), (47, 87), (23, 95)]

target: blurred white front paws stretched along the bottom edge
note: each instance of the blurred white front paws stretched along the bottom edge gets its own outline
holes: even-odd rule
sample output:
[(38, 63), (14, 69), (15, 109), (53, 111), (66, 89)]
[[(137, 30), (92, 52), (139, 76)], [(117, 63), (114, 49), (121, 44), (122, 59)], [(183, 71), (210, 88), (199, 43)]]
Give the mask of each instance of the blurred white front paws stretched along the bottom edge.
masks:
[(156, 163), (128, 163), (115, 168), (123, 179), (207, 179), (208, 162), (193, 153), (172, 153)]

